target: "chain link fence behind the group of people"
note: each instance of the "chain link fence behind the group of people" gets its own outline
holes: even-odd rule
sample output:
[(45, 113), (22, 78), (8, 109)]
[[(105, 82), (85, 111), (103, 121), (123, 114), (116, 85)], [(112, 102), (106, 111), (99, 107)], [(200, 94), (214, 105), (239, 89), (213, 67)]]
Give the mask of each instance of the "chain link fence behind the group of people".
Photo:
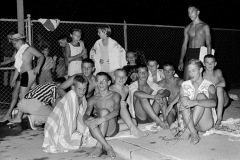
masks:
[[(59, 26), (51, 32), (47, 31), (37, 20), (32, 20), (32, 45), (40, 51), (41, 41), (46, 41), (50, 46), (50, 56), (62, 57), (57, 38), (61, 34), (65, 34), (69, 36), (70, 40), (71, 30), (79, 28), (83, 32), (82, 40), (89, 53), (95, 41), (99, 39), (96, 29), (99, 24), (105, 23), (61, 21)], [(124, 47), (124, 24), (108, 23), (108, 25), (112, 29), (111, 37)], [(6, 38), (10, 30), (17, 32), (17, 20), (0, 19), (1, 62), (4, 61), (4, 57), (12, 55), (12, 46)], [(240, 75), (238, 74), (240, 70), (238, 64), (240, 61), (240, 56), (238, 56), (238, 53), (240, 53), (239, 41), (240, 30), (212, 29), (212, 44), (216, 50), (218, 67), (222, 69), (228, 84), (230, 84), (229, 87), (233, 88), (240, 86)], [(182, 42), (183, 27), (127, 24), (128, 51), (138, 51), (143, 53), (146, 59), (156, 59), (160, 66), (164, 62), (170, 61), (177, 67)], [(13, 64), (9, 64), (9, 66), (11, 65)], [(177, 69), (176, 71), (178, 75), (182, 75)], [(10, 72), (10, 70), (0, 70), (0, 112), (1, 108), (8, 107), (11, 102), (12, 89), (9, 83), (4, 83), (6, 72)], [(9, 75), (8, 81), (10, 79)]]

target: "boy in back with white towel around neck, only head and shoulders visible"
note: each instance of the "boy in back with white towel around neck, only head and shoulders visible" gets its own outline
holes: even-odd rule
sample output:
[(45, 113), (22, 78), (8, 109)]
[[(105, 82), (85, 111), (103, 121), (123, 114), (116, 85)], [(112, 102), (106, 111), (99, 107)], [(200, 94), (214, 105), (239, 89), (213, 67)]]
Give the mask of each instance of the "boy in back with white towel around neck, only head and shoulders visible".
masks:
[[(165, 78), (163, 69), (158, 69), (159, 64), (155, 59), (148, 60), (148, 70), (149, 76), (148, 81), (157, 83)], [(174, 73), (174, 77), (178, 77), (176, 73)]]

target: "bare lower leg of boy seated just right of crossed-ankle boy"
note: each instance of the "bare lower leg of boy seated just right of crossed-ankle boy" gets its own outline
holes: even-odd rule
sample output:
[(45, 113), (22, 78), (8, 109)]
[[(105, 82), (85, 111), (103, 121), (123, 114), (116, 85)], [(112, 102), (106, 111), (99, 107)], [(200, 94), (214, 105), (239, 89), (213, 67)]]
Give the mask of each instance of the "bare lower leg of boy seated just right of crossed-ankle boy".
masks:
[(121, 107), (120, 115), (123, 121), (126, 123), (128, 128), (130, 129), (130, 134), (136, 137), (143, 137), (147, 136), (147, 133), (142, 132), (132, 121), (130, 114), (127, 110), (127, 107)]

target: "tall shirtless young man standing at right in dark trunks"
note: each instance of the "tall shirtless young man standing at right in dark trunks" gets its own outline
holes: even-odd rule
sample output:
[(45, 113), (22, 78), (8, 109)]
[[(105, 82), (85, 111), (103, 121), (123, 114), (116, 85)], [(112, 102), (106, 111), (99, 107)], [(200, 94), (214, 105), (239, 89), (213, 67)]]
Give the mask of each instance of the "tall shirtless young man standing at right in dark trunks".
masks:
[[(207, 53), (211, 54), (211, 34), (208, 24), (199, 19), (200, 9), (196, 6), (188, 7), (188, 16), (192, 22), (184, 28), (184, 40), (182, 44), (181, 58), (178, 69), (183, 70), (184, 80), (188, 80), (186, 64), (190, 59), (199, 59), (201, 46), (207, 47)], [(183, 61), (185, 58), (185, 61)]]

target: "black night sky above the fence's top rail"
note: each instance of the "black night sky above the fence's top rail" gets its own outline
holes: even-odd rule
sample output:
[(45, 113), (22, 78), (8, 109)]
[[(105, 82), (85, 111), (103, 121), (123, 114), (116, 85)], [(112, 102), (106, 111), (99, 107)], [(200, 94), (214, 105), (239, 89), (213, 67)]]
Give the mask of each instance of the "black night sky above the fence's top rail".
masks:
[[(189, 4), (200, 5), (200, 19), (212, 28), (240, 29), (237, 0), (24, 0), (32, 19), (186, 26)], [(16, 0), (4, 2), (0, 18), (17, 18)]]

